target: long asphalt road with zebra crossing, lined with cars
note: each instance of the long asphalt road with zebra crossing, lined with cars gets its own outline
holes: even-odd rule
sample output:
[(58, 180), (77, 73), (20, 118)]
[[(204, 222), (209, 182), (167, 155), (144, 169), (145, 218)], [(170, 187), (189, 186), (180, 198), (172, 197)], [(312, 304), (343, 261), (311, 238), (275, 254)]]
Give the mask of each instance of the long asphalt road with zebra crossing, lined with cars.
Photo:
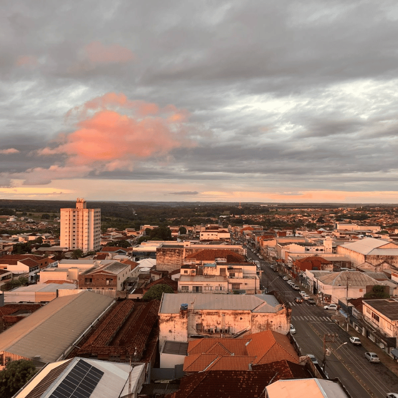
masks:
[[(247, 257), (259, 260), (249, 249)], [(325, 371), (330, 379), (338, 378), (353, 398), (385, 398), (387, 393), (398, 392), (398, 378), (382, 363), (372, 364), (365, 359), (365, 348), (353, 346), (349, 334), (338, 327), (333, 320), (335, 311), (322, 306), (309, 305), (306, 301), (295, 303), (298, 292), (294, 291), (277, 272), (261, 262), (261, 284), (268, 290), (277, 290), (283, 294), (292, 306), (292, 324), (296, 328), (296, 339), (301, 355), (313, 354), (322, 364), (325, 347), (330, 356), (325, 356)], [(304, 290), (304, 289), (303, 289)], [(347, 342), (347, 344), (343, 344)]]

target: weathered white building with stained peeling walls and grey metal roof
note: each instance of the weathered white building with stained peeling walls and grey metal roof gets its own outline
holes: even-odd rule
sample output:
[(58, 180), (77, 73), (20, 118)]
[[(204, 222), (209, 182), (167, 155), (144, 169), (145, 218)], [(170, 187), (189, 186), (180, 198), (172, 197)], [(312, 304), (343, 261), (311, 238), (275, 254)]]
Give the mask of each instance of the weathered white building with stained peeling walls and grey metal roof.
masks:
[(273, 330), (287, 334), (292, 309), (272, 295), (163, 294), (159, 346), (195, 337), (230, 337)]

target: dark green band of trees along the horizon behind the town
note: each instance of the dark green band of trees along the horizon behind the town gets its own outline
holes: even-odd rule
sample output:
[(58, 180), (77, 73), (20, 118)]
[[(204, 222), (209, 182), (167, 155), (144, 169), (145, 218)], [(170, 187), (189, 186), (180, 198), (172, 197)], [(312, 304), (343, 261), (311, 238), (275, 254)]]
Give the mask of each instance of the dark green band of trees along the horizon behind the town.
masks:
[[(59, 216), (60, 208), (73, 208), (76, 201), (66, 200), (12, 200), (0, 199), (0, 214), (2, 215), (29, 215), (51, 214)], [(218, 221), (222, 226), (259, 224), (264, 229), (269, 228), (315, 228), (331, 226), (321, 224), (323, 215), (333, 211), (335, 221), (344, 219), (364, 220), (369, 218), (367, 212), (380, 211), (395, 213), (393, 204), (340, 204), (340, 203), (278, 203), (264, 205), (261, 203), (239, 202), (145, 202), (145, 201), (87, 201), (88, 208), (101, 209), (101, 229), (107, 228), (139, 229), (141, 225), (159, 226), (193, 226), (197, 224), (214, 224)], [(342, 208), (353, 208), (351, 214), (342, 214)], [(309, 210), (310, 209), (310, 210)], [(295, 218), (284, 221), (278, 214), (297, 215)], [(240, 218), (241, 215), (246, 217)], [(261, 219), (257, 216), (263, 215)], [(313, 215), (312, 221), (302, 220), (300, 215)], [(222, 217), (220, 217), (222, 216)], [(250, 218), (248, 216), (253, 216)]]

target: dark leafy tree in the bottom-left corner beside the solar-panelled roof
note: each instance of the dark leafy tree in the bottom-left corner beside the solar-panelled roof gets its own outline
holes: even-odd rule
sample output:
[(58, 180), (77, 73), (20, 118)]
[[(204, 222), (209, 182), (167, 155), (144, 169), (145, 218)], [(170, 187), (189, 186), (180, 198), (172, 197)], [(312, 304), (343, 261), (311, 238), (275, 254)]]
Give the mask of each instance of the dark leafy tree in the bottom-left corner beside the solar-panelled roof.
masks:
[(9, 362), (0, 372), (0, 397), (10, 398), (36, 373), (33, 362), (19, 359)]

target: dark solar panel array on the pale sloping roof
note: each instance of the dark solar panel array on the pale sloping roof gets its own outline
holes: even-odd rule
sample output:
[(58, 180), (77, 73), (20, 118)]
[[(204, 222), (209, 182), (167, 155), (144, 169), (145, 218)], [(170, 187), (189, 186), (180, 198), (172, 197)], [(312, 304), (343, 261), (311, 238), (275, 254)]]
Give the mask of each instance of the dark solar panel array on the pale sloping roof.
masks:
[(65, 376), (50, 398), (89, 398), (103, 372), (80, 360)]

